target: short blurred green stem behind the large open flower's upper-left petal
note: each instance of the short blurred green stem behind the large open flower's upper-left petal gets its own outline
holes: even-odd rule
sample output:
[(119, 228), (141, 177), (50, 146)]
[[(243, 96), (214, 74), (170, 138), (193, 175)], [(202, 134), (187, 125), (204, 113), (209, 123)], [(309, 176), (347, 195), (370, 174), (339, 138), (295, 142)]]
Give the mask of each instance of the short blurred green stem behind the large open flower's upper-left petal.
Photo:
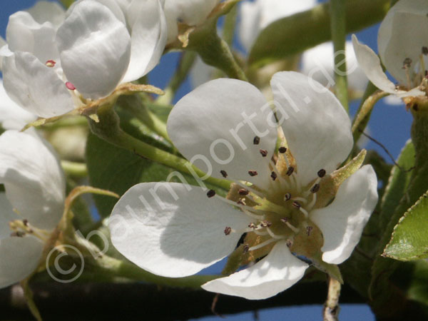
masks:
[(171, 78), (170, 83), (164, 90), (165, 95), (159, 96), (158, 99), (156, 99), (156, 103), (169, 105), (173, 101), (178, 88), (180, 88), (183, 81), (185, 81), (185, 78), (187, 78), (193, 63), (195, 62), (195, 58), (196, 53), (193, 51), (184, 51), (183, 54), (181, 54), (178, 68), (175, 71), (173, 78)]

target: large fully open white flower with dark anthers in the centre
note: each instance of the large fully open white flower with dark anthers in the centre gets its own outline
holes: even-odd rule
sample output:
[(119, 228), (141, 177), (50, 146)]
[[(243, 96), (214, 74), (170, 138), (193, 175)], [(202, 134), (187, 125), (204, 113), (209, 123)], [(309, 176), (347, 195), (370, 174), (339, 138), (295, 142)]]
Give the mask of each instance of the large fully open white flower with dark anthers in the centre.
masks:
[(352, 149), (350, 119), (330, 91), (300, 73), (276, 73), (271, 86), (288, 148), (280, 148), (276, 163), (277, 123), (250, 83), (210, 81), (175, 105), (168, 133), (178, 151), (204, 178), (227, 177), (237, 185), (228, 199), (181, 183), (133, 186), (109, 222), (113, 245), (126, 258), (156, 275), (184, 277), (225, 258), (248, 233), (248, 244), (237, 250), (253, 260), (267, 256), (203, 285), (248, 299), (300, 280), (308, 265), (295, 254), (318, 263), (349, 258), (377, 203), (374, 170), (360, 168), (331, 195), (332, 203), (322, 203), (326, 174)]

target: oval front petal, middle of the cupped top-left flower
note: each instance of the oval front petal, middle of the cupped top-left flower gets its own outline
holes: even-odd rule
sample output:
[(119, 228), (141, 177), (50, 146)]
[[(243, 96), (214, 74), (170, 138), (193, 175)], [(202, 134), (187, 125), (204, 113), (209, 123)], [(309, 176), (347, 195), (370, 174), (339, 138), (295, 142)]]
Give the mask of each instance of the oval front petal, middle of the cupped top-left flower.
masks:
[(68, 81), (85, 98), (108, 96), (126, 73), (131, 39), (126, 26), (103, 4), (76, 4), (56, 41)]

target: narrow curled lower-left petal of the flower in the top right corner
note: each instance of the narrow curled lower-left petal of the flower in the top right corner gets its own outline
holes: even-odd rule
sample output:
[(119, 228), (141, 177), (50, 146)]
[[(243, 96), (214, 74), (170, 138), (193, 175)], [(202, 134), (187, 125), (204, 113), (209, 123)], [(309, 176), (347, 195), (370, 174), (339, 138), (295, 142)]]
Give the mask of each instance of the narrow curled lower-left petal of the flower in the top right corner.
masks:
[(372, 51), (370, 47), (360, 44), (355, 34), (352, 35), (352, 44), (354, 45), (358, 64), (374, 86), (377, 86), (377, 88), (387, 93), (394, 93), (401, 96), (419, 96), (424, 94), (422, 91), (412, 91), (414, 93), (412, 95), (412, 93), (407, 91), (397, 90), (394, 83), (388, 79), (387, 75), (382, 70), (380, 59), (377, 54), (374, 54), (374, 51)]

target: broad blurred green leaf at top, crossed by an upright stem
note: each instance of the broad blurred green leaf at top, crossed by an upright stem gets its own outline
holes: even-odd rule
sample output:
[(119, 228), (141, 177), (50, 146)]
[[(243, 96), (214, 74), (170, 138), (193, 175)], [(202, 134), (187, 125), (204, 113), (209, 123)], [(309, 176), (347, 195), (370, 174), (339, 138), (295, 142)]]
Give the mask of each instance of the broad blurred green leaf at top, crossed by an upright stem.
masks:
[[(346, 32), (355, 32), (381, 21), (390, 0), (346, 0)], [(248, 64), (260, 66), (299, 54), (331, 40), (329, 4), (274, 21), (255, 41)]]

